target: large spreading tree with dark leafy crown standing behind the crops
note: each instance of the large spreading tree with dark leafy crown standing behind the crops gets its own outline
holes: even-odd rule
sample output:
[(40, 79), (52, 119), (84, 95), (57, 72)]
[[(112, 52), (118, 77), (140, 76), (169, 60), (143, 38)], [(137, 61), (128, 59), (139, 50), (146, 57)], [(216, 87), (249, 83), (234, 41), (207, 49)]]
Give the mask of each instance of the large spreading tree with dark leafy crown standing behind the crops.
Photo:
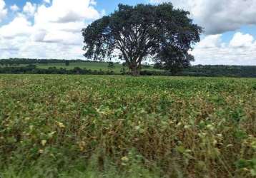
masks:
[(118, 7), (82, 29), (86, 58), (103, 61), (118, 57), (132, 75), (139, 75), (147, 58), (162, 62), (168, 70), (189, 64), (188, 51), (200, 41), (202, 28), (192, 23), (188, 11), (174, 9), (171, 3)]

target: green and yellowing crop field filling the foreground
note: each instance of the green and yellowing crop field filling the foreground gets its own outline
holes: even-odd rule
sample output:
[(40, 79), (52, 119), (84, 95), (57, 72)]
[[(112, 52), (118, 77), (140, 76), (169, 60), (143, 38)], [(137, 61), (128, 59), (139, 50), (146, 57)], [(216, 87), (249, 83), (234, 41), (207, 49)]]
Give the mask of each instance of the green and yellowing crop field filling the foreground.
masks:
[(0, 75), (0, 177), (255, 177), (256, 79)]

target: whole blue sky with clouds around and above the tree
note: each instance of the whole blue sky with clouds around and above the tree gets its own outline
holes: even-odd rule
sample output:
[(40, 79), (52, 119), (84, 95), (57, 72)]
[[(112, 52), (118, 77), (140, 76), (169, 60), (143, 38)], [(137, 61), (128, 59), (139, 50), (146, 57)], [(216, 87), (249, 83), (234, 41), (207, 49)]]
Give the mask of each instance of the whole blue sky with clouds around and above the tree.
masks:
[(256, 66), (256, 0), (0, 0), (0, 58), (84, 59), (89, 23), (120, 3), (167, 1), (204, 28), (193, 65)]

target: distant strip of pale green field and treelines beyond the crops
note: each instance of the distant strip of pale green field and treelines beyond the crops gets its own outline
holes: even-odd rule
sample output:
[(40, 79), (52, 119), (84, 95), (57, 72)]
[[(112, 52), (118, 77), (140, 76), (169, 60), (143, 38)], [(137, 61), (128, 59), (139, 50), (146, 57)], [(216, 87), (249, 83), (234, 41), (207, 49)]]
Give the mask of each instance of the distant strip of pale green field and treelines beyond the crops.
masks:
[[(114, 63), (114, 68), (108, 68), (109, 63), (97, 61), (70, 61), (69, 66), (63, 60), (36, 60), (36, 59), (7, 59), (0, 60), (0, 73), (34, 73), (34, 74), (78, 74), (74, 68), (80, 68), (79, 74), (122, 74), (128, 75), (126, 63)], [(9, 65), (11, 63), (11, 66)], [(27, 66), (29, 64), (29, 66)], [(36, 66), (36, 68), (34, 68)], [(154, 66), (142, 65), (140, 75), (177, 75), (177, 76), (207, 76), (207, 77), (256, 77), (256, 66), (190, 66), (182, 71), (174, 67), (174, 71), (163, 70), (162, 63)], [(102, 70), (101, 72), (99, 70)], [(113, 71), (113, 72), (109, 72)], [(176, 73), (179, 71), (178, 73)], [(256, 85), (253, 86), (256, 88)]]

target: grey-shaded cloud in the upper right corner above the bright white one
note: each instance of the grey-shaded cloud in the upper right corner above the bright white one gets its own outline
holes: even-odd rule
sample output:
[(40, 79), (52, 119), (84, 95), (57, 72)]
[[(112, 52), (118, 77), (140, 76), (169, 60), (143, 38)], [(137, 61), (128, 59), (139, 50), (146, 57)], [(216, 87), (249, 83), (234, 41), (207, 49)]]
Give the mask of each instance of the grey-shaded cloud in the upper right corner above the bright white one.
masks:
[(171, 1), (174, 7), (191, 12), (206, 34), (235, 31), (242, 25), (256, 25), (255, 0), (150, 0), (154, 3)]

